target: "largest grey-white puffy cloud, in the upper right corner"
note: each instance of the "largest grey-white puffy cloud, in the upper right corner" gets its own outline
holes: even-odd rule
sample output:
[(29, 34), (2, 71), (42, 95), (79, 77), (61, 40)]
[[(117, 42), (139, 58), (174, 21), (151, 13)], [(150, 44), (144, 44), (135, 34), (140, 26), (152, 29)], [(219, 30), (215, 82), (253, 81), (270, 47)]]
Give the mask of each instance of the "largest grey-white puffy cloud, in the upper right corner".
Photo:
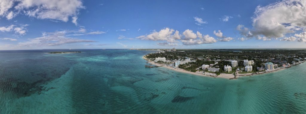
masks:
[(285, 37), (288, 33), (306, 28), (305, 12), (306, 0), (283, 0), (267, 6), (257, 6), (252, 17), (253, 29), (241, 27), (239, 31), (246, 37)]

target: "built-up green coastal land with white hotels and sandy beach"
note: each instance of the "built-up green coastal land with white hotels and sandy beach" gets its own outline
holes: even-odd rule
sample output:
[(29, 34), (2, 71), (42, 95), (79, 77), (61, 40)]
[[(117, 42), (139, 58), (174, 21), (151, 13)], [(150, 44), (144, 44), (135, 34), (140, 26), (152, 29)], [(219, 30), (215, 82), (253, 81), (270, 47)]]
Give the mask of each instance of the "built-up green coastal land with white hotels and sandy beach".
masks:
[(306, 60), (305, 49), (150, 50), (156, 52), (143, 56), (149, 64), (146, 67), (163, 66), (178, 72), (227, 79), (284, 70)]

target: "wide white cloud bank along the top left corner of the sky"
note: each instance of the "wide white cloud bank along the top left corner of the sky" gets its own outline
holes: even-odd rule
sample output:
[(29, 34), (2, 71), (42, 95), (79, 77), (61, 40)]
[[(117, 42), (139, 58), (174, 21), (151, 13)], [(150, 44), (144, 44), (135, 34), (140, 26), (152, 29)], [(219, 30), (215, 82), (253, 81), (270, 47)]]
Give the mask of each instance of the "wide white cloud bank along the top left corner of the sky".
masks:
[(37, 19), (67, 22), (69, 17), (75, 19), (84, 8), (81, 0), (1, 0), (0, 16), (10, 20), (17, 14), (24, 14)]

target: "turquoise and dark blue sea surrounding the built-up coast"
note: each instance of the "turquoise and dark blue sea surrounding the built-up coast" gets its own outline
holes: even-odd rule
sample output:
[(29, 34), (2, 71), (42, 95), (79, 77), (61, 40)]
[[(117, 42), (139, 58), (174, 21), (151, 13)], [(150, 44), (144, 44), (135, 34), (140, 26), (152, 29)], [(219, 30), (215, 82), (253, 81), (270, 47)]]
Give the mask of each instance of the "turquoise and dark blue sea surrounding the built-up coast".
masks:
[(306, 113), (305, 63), (228, 80), (145, 68), (151, 51), (51, 51), (0, 51), (1, 114)]

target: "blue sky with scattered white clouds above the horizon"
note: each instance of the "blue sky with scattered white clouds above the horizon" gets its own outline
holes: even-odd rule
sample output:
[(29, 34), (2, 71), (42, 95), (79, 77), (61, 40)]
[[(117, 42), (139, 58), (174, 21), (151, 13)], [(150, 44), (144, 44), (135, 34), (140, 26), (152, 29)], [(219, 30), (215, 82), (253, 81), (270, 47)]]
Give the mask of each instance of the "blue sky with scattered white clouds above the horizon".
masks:
[(306, 48), (306, 0), (19, 1), (0, 1), (0, 50)]

